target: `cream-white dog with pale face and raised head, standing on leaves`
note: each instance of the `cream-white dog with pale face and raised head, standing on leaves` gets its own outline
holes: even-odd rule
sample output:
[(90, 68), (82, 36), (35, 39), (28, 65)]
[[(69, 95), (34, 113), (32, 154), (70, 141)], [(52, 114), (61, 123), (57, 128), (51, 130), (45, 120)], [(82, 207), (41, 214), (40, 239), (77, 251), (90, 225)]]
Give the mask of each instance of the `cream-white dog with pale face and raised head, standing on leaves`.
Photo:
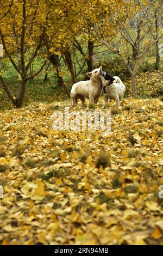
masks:
[(72, 107), (77, 105), (78, 99), (82, 100), (83, 107), (85, 106), (85, 98), (89, 99), (91, 104), (98, 102), (103, 88), (101, 76), (99, 76), (101, 74), (102, 66), (86, 73), (86, 75), (90, 77), (90, 80), (73, 84), (71, 88)]

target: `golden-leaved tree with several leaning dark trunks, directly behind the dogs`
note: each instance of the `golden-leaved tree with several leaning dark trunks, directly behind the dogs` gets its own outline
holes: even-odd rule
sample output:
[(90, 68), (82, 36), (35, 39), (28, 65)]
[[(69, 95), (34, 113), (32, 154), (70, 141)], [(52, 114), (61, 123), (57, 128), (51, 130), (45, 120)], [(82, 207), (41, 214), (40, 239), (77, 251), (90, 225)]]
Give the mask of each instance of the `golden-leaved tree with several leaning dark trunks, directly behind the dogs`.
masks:
[[(72, 58), (72, 44), (75, 45), (78, 50), (82, 49), (78, 38), (89, 35), (88, 27), (89, 20), (94, 20), (97, 17), (97, 0), (87, 2), (85, 0), (73, 0), (73, 1), (48, 1), (48, 16), (49, 21), (46, 34), (46, 47), (48, 50), (48, 58), (53, 59), (53, 65), (56, 67), (57, 72), (61, 75), (61, 69), (57, 60), (57, 54), (64, 58), (65, 63), (70, 70), (72, 82), (76, 82), (76, 74), (74, 71), (74, 63)], [(57, 10), (57, 11), (56, 11)], [(54, 26), (55, 24), (55, 26)], [(80, 37), (81, 36), (81, 37)], [(56, 40), (57, 39), (57, 40)], [(78, 47), (79, 44), (79, 47)], [(88, 51), (86, 54), (83, 50), (80, 53), (86, 60), (89, 70), (93, 69), (92, 66), (92, 51), (93, 40), (89, 35), (88, 39)], [(52, 57), (53, 56), (53, 57)], [(58, 71), (59, 70), (59, 71)], [(59, 78), (62, 86), (64, 81)], [(62, 80), (62, 81), (61, 81)]]

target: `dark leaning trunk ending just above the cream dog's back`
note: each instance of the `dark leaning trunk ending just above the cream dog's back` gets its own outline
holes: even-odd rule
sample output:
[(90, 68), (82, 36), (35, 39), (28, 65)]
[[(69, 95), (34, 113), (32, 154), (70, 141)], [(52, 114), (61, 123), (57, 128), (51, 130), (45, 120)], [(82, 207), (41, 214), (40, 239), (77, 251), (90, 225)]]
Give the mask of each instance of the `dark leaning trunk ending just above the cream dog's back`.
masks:
[(72, 82), (76, 83), (77, 80), (76, 80), (76, 75), (75, 75), (75, 72), (74, 72), (74, 69), (73, 69), (73, 62), (72, 62), (72, 57), (71, 57), (71, 51), (70, 51), (70, 47), (68, 45), (66, 46), (66, 48), (64, 48), (63, 54), (65, 56), (65, 61), (66, 61), (66, 64), (68, 66), (68, 70), (71, 73)]

